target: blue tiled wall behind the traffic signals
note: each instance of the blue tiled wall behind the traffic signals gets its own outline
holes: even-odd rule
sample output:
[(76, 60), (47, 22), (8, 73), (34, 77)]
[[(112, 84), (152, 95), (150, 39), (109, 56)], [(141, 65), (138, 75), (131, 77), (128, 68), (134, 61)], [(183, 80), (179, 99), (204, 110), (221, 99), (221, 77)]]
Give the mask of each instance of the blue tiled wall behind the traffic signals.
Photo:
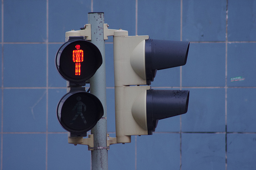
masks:
[[(154, 89), (190, 90), (188, 113), (108, 151), (110, 170), (256, 169), (256, 0), (2, 0), (0, 169), (89, 169), (56, 118), (66, 81), (54, 57), (65, 32), (104, 12), (130, 36), (190, 41), (187, 64), (160, 70)], [(107, 120), (115, 136), (113, 38), (106, 41)]]

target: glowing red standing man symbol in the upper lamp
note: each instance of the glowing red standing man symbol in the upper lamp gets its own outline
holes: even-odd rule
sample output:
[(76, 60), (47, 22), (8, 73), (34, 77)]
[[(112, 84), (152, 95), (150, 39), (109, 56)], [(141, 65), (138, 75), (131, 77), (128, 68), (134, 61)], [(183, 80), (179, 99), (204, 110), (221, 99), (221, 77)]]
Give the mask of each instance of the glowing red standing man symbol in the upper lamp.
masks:
[(81, 74), (81, 62), (84, 61), (84, 51), (80, 49), (80, 45), (76, 45), (73, 50), (73, 62), (76, 63), (75, 75)]

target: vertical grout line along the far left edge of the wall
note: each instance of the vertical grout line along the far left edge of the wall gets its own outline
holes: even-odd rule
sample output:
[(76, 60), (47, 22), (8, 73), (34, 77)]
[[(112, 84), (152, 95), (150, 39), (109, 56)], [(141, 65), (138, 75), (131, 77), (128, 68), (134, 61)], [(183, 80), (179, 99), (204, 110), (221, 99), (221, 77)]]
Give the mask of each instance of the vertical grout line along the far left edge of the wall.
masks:
[(2, 21), (1, 21), (1, 24), (2, 24), (2, 32), (1, 32), (1, 35), (2, 35), (2, 69), (1, 69), (1, 79), (2, 79), (2, 84), (1, 84), (1, 92), (2, 92), (2, 95), (1, 95), (1, 100), (2, 100), (2, 108), (1, 108), (1, 170), (3, 169), (3, 128), (4, 128), (4, 0), (2, 0)]

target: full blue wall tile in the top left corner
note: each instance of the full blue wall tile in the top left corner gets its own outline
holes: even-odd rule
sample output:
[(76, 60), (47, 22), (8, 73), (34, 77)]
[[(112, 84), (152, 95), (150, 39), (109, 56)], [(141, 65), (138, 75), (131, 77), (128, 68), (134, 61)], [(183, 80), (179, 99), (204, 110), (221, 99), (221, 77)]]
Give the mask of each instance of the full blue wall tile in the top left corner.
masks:
[(4, 42), (46, 42), (46, 1), (5, 1)]

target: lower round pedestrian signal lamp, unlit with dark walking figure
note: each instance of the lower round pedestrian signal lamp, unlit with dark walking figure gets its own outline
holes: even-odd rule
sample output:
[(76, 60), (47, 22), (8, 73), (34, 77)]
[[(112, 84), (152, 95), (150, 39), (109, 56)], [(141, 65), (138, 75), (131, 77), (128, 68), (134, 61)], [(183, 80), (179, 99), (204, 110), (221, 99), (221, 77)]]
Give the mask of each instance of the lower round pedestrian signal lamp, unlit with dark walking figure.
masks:
[(103, 116), (100, 100), (85, 91), (71, 91), (64, 95), (57, 106), (60, 125), (73, 134), (91, 130)]

